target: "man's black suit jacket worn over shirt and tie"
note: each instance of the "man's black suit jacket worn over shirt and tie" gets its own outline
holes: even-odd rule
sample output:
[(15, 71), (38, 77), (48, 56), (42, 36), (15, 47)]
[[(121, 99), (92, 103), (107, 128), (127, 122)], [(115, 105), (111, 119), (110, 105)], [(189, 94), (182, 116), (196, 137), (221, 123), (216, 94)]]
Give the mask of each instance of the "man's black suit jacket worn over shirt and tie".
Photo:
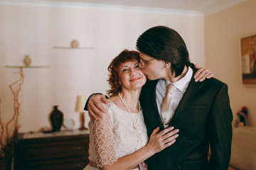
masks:
[[(193, 67), (193, 74), (195, 72)], [(149, 136), (157, 127), (164, 129), (156, 106), (157, 82), (147, 81), (139, 99)], [(169, 124), (179, 129), (179, 137), (174, 145), (146, 160), (148, 169), (227, 170), (232, 120), (228, 86), (214, 78), (203, 82), (192, 78)], [(211, 157), (208, 161), (209, 144)]]

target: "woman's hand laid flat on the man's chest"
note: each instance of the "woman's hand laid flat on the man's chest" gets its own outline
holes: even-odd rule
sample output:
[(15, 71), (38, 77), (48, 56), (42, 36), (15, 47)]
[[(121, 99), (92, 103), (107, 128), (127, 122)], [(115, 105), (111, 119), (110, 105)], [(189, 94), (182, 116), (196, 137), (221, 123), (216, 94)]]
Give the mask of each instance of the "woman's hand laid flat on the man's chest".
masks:
[(178, 137), (178, 134), (176, 134), (178, 129), (174, 130), (174, 127), (166, 128), (157, 133), (158, 131), (159, 128), (153, 130), (149, 138), (149, 143), (146, 145), (154, 154), (173, 145)]

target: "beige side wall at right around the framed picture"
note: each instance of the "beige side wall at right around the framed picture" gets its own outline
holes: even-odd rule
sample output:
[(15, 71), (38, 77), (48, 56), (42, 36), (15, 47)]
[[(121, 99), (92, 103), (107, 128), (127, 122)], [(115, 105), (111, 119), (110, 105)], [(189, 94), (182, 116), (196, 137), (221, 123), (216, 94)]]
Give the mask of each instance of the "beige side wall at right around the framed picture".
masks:
[(256, 34), (256, 1), (246, 1), (206, 16), (206, 67), (228, 84), (234, 114), (247, 106), (248, 124), (256, 125), (256, 86), (242, 85), (240, 38)]

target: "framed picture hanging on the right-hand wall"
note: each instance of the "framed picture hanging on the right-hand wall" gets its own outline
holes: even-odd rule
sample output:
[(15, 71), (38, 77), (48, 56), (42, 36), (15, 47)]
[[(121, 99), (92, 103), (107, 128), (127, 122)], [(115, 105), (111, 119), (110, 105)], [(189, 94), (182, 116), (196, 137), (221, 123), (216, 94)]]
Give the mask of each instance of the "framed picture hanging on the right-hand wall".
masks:
[(241, 38), (242, 84), (256, 84), (256, 35)]

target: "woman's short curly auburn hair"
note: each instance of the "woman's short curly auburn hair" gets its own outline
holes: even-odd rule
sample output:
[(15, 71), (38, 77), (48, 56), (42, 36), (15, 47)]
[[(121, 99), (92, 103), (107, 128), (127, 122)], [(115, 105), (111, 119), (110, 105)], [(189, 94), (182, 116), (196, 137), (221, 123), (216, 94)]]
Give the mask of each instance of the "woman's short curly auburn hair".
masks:
[(110, 84), (110, 89), (107, 90), (108, 96), (114, 96), (117, 95), (119, 91), (121, 91), (122, 87), (119, 84), (119, 66), (122, 63), (130, 62), (132, 60), (139, 61), (139, 52), (133, 51), (133, 50), (123, 50), (117, 57), (114, 57), (112, 62), (110, 63), (110, 66), (107, 68), (107, 70), (110, 72), (109, 79), (107, 80)]

